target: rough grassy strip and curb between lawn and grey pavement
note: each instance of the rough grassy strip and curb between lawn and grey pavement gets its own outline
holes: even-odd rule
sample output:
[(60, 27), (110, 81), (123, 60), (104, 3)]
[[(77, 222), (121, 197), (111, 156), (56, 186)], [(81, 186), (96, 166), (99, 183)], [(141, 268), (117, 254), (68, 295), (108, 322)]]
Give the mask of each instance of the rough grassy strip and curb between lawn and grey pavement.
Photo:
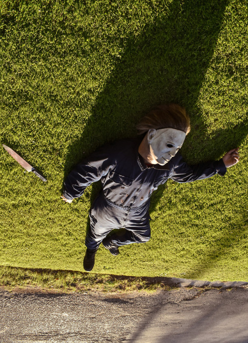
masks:
[(229, 289), (248, 288), (248, 282), (208, 282), (164, 277), (131, 277), (0, 266), (0, 289), (14, 292), (146, 292), (169, 291), (178, 287)]

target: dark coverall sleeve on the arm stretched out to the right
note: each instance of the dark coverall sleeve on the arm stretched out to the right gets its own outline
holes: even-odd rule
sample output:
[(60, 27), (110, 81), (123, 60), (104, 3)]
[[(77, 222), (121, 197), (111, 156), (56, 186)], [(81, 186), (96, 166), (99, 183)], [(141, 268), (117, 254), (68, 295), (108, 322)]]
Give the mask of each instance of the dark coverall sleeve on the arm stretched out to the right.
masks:
[(189, 166), (181, 156), (178, 164), (174, 166), (174, 171), (170, 178), (177, 182), (191, 182), (203, 180), (204, 178), (211, 177), (217, 173), (224, 176), (226, 171), (227, 168), (222, 159)]

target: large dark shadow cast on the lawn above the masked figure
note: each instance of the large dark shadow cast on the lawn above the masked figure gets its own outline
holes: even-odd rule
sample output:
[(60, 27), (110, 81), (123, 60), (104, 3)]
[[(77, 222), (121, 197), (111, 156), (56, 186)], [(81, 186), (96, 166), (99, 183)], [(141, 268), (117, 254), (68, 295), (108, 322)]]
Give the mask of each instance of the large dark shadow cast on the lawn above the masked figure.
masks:
[[(247, 126), (220, 130), (211, 140), (206, 138), (207, 128), (196, 105), (228, 2), (173, 1), (168, 14), (147, 26), (141, 37), (129, 38), (82, 136), (68, 151), (64, 176), (98, 146), (135, 136), (139, 118), (158, 103), (179, 103), (190, 114), (191, 133), (183, 149), (186, 158), (219, 158), (243, 141)], [(99, 183), (93, 185), (91, 204), (100, 188)], [(151, 211), (157, 201), (158, 194), (151, 199)]]

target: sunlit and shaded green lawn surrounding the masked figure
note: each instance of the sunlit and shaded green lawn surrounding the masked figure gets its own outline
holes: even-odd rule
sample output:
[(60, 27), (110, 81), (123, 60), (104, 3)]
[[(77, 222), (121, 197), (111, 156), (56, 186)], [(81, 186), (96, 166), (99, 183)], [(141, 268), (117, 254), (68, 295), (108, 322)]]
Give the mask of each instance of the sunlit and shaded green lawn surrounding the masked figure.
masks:
[(136, 134), (154, 104), (186, 107), (188, 163), (240, 147), (224, 177), (167, 182), (152, 196), (152, 238), (101, 247), (94, 272), (248, 280), (248, 6), (240, 0), (0, 1), (0, 265), (83, 271), (99, 184), (65, 204), (83, 156)]

